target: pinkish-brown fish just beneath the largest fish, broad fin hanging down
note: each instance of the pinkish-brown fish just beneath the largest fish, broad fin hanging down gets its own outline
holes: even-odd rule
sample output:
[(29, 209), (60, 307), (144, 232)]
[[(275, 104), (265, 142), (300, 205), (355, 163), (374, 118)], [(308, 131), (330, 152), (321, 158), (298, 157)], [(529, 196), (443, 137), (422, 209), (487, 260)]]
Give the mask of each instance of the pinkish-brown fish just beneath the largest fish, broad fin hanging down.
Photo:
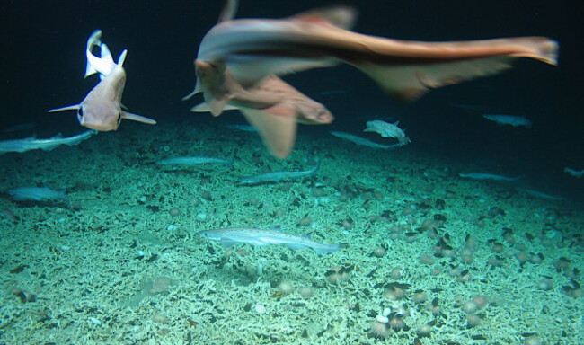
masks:
[[(197, 60), (197, 75), (205, 90), (205, 102), (190, 111), (210, 111), (219, 116), (224, 110), (238, 110), (258, 129), (270, 153), (283, 159), (296, 141), (296, 123), (323, 125), (334, 117), (323, 104), (300, 93), (276, 75), (268, 75), (249, 87), (237, 83), (226, 66)], [(220, 96), (219, 96), (220, 94)], [(208, 97), (209, 95), (215, 95)]]

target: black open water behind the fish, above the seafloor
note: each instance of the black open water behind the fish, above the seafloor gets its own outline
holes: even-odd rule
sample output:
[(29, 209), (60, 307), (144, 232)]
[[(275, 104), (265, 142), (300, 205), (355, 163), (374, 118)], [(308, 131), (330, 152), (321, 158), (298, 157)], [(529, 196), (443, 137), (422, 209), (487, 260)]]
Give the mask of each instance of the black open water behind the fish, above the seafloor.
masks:
[[(123, 101), (129, 111), (159, 122), (214, 120), (189, 112), (200, 95), (190, 102), (181, 102), (181, 97), (194, 86), (193, 59), (203, 35), (217, 21), (222, 1), (2, 0), (1, 4), (0, 128), (36, 121), (79, 132), (73, 112), (46, 111), (80, 102), (93, 88), (96, 76), (83, 79), (84, 49), (98, 28), (115, 59), (128, 49)], [(326, 4), (335, 2), (242, 0), (237, 16), (278, 18)], [(365, 0), (353, 4), (359, 10), (358, 32), (403, 40), (548, 36), (560, 42), (560, 64), (521, 60), (507, 73), (441, 88), (411, 104), (394, 102), (351, 66), (290, 75), (289, 83), (325, 103), (336, 118), (332, 127), (302, 130), (358, 134), (354, 128), (364, 128), (366, 119), (393, 117), (412, 138), (411, 146), (432, 155), (497, 162), (500, 173), (524, 173), (582, 190), (584, 179), (562, 173), (564, 166), (584, 169), (584, 17), (579, 2)], [(499, 127), (482, 119), (482, 113), (526, 116), (534, 126)]]

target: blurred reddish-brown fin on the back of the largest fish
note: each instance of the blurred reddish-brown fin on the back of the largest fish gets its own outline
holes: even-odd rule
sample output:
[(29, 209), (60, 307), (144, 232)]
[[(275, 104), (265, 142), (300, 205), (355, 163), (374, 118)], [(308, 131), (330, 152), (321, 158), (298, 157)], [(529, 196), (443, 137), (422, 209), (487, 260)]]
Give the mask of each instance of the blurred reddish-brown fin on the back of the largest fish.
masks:
[(291, 20), (305, 22), (323, 22), (344, 30), (351, 30), (357, 22), (358, 12), (347, 5), (332, 5), (303, 13), (298, 13)]

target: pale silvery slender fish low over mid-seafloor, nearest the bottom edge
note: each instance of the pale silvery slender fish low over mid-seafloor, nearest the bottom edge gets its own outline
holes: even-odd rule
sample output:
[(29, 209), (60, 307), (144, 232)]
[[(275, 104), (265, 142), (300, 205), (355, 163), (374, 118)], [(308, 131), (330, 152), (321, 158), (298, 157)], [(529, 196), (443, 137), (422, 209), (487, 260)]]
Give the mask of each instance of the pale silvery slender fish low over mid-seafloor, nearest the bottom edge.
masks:
[(342, 248), (348, 247), (347, 243), (318, 243), (303, 236), (287, 234), (275, 229), (264, 230), (249, 227), (232, 227), (226, 229), (203, 230), (199, 231), (198, 234), (208, 240), (221, 241), (221, 245), (226, 248), (232, 247), (235, 243), (249, 243), (253, 245), (284, 244), (295, 251), (298, 249), (311, 248), (318, 255), (323, 255), (330, 252), (339, 252)]

